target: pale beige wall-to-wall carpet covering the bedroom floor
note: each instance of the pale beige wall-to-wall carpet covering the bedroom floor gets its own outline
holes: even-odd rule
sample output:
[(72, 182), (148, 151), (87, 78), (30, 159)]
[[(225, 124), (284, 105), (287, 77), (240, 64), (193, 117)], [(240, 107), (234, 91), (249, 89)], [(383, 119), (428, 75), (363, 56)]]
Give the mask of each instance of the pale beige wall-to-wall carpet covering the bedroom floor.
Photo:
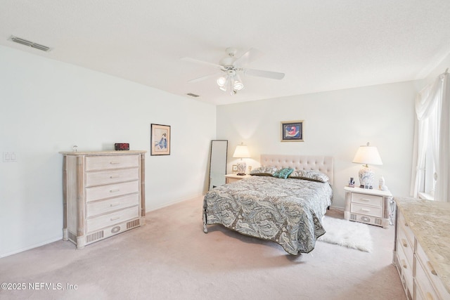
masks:
[[(61, 240), (4, 257), (0, 282), (63, 289), (0, 289), (0, 299), (406, 299), (392, 266), (392, 226), (368, 226), (371, 253), (317, 242), (292, 256), (223, 226), (203, 233), (202, 206), (196, 197), (151, 211), (146, 226), (84, 249)], [(343, 219), (342, 211), (327, 215)]]

